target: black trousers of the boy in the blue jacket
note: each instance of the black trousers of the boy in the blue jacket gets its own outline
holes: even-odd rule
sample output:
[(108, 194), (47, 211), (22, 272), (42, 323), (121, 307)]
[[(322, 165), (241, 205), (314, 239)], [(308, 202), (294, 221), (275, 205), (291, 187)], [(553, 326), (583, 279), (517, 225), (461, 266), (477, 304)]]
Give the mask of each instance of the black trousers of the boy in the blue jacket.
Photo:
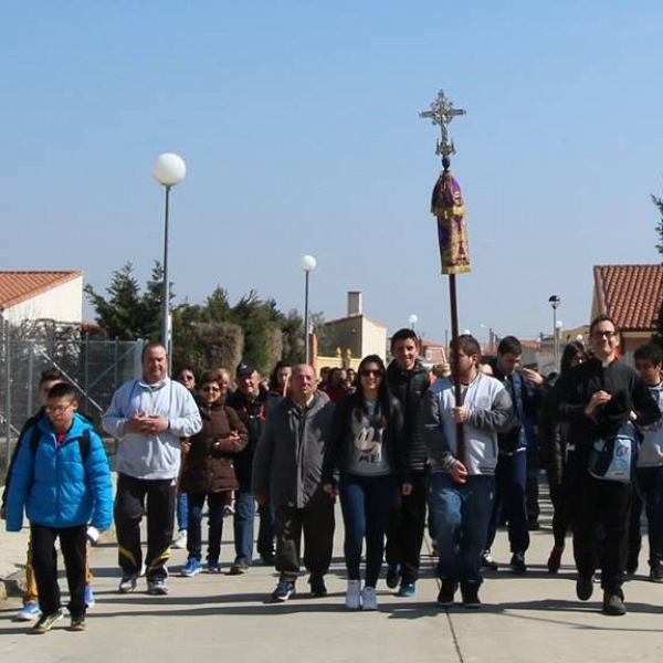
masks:
[(69, 611), (73, 617), (85, 614), (85, 546), (86, 525), (75, 527), (45, 527), (30, 524), (32, 537), (32, 566), (39, 591), (42, 614), (60, 610), (60, 587), (57, 585), (57, 555), (55, 539), (64, 557), (66, 581), (70, 591)]

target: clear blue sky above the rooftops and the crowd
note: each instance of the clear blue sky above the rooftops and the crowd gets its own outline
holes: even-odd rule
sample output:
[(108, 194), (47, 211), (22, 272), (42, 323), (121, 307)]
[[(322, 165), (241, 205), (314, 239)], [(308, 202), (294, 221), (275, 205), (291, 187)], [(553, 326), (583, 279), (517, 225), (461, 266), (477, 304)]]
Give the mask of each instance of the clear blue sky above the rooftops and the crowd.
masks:
[[(162, 256), (177, 302), (221, 285), (443, 340), (430, 192), (439, 90), (472, 273), (460, 324), (532, 338), (588, 322), (594, 264), (655, 263), (663, 4), (610, 0), (0, 2), (3, 270), (83, 270), (103, 293)], [(88, 315), (91, 312), (88, 309)], [(484, 327), (482, 327), (485, 326)]]

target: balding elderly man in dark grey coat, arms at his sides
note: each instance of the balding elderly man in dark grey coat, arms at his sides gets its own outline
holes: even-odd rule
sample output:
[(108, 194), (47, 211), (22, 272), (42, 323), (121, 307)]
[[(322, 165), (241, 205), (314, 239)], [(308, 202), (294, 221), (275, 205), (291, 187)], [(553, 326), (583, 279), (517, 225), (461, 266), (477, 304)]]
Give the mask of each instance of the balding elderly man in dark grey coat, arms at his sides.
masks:
[(292, 375), (292, 393), (270, 412), (253, 457), (255, 501), (271, 499), (276, 511), (276, 570), (281, 577), (272, 598), (287, 601), (299, 575), (301, 539), (311, 572), (311, 593), (327, 593), (325, 573), (334, 545), (334, 498), (322, 483), (333, 404), (316, 390), (313, 368), (301, 364)]

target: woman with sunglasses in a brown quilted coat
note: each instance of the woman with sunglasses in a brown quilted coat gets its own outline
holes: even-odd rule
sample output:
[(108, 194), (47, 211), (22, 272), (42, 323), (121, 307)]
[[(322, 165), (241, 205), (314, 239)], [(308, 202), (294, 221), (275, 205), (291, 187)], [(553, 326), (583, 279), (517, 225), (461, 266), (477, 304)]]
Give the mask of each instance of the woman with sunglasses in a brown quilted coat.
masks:
[(186, 578), (197, 576), (202, 570), (201, 520), (206, 498), (209, 508), (207, 569), (210, 573), (221, 572), (219, 557), (225, 492), (239, 487), (233, 457), (249, 441), (246, 427), (235, 410), (223, 404), (223, 387), (219, 373), (204, 373), (200, 385), (198, 407), (202, 429), (189, 442), (185, 442), (188, 449), (180, 476), (180, 488), (189, 495), (189, 559), (180, 572)]

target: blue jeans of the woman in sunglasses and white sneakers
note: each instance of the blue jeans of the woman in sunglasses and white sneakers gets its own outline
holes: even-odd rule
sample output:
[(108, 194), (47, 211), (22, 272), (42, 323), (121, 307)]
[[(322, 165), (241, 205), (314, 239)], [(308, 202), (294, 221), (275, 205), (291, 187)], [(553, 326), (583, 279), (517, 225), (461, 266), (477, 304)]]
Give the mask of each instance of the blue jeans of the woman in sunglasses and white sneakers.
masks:
[(366, 538), (366, 585), (376, 587), (382, 567), (385, 532), (393, 505), (396, 478), (348, 475), (338, 486), (345, 524), (344, 554), (349, 580), (359, 580)]

